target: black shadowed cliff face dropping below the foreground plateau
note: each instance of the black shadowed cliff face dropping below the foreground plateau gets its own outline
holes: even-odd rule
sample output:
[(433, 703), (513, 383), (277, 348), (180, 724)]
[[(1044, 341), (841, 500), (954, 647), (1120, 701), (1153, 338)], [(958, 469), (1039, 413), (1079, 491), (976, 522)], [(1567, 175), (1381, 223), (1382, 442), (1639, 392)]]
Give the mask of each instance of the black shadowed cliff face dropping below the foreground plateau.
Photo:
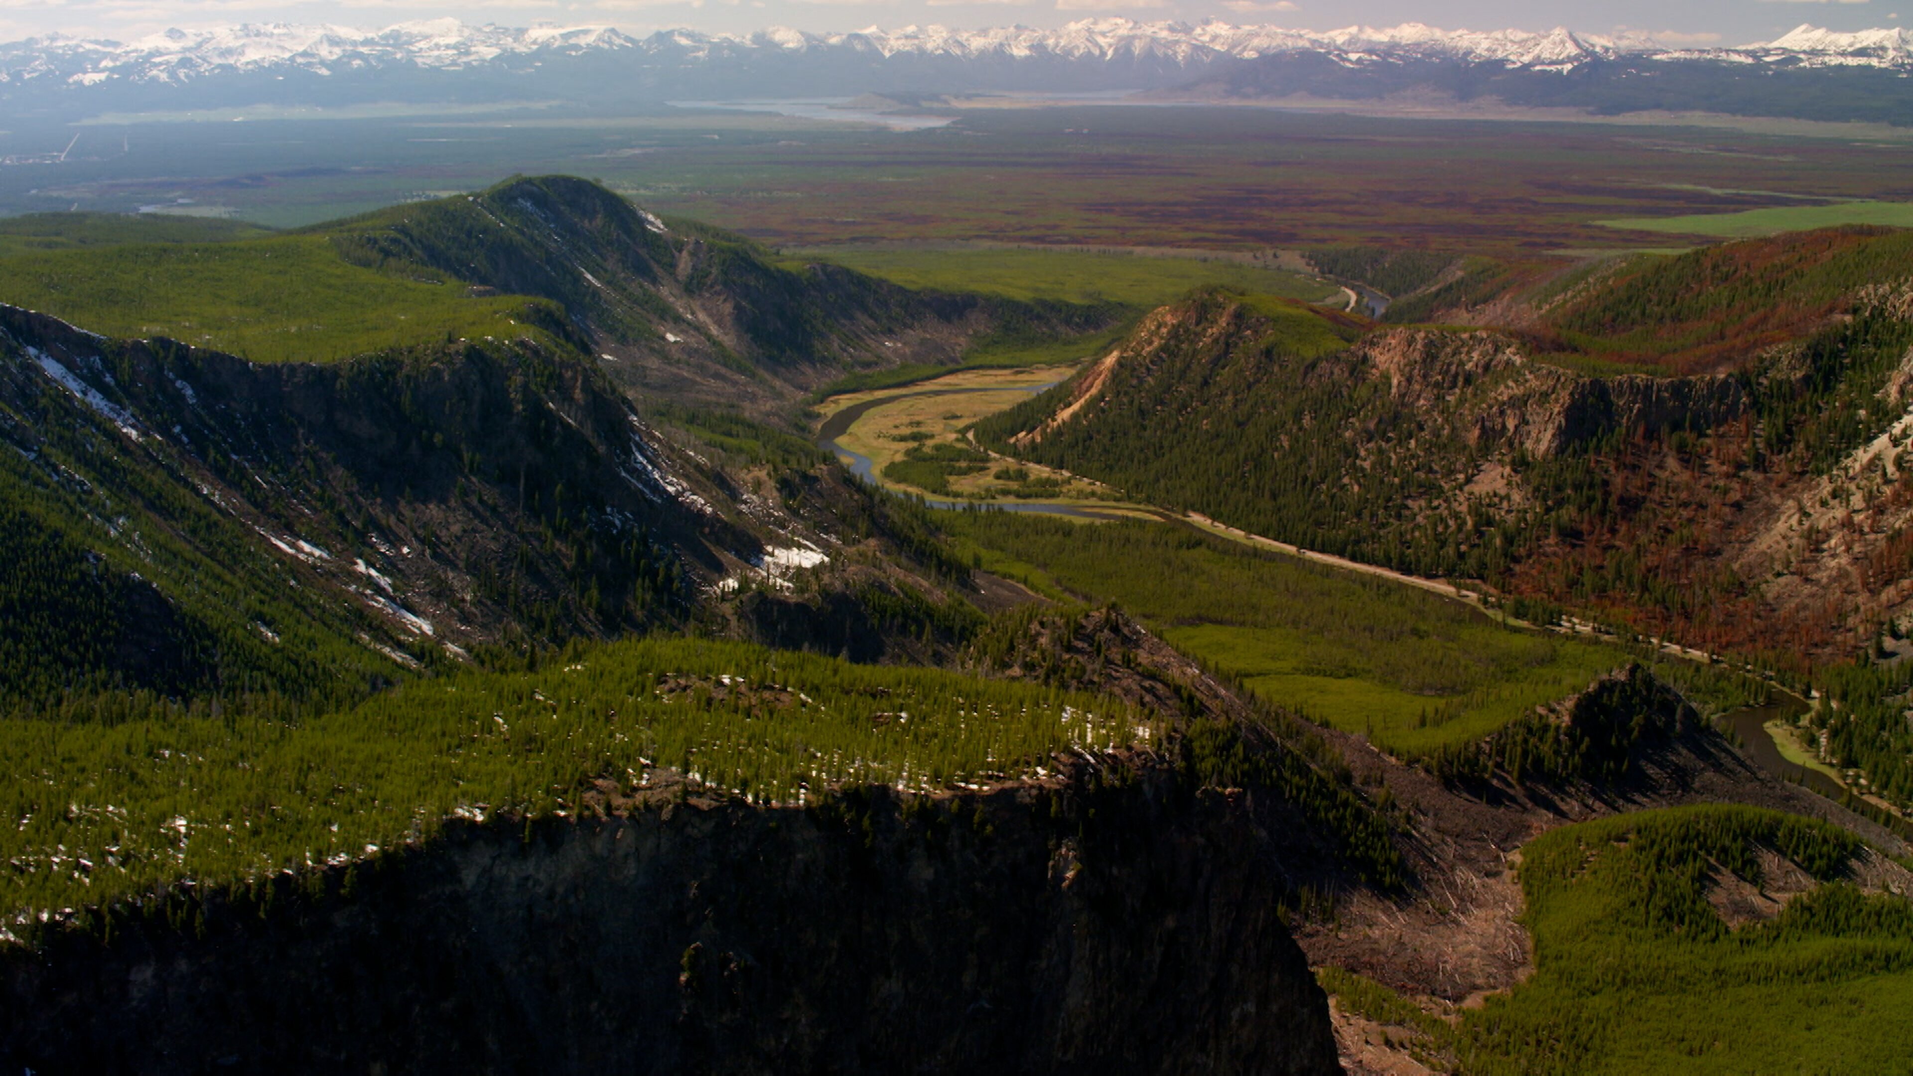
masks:
[(935, 800), (457, 825), (0, 955), (0, 1065), (1337, 1072), (1253, 798), (1098, 760)]

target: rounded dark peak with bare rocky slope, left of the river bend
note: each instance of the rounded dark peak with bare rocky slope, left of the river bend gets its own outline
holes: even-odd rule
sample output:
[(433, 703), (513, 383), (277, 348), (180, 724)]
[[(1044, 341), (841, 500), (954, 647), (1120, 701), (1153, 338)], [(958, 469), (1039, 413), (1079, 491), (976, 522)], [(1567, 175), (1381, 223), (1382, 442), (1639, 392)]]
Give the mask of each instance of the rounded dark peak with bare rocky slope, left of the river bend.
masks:
[(321, 232), (356, 264), (423, 266), (557, 301), (620, 383), (677, 400), (767, 406), (851, 370), (956, 362), (983, 337), (1081, 333), (1119, 316), (782, 264), (740, 235), (666, 222), (566, 176), (509, 180)]

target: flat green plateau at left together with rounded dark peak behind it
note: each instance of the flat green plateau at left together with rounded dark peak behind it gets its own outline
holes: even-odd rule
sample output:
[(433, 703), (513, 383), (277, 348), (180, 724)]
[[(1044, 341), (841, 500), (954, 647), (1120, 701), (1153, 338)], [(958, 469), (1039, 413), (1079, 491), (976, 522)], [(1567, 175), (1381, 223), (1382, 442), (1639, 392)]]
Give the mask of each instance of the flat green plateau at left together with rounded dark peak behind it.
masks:
[(849, 371), (953, 364), (978, 341), (1106, 329), (1111, 304), (911, 291), (784, 266), (717, 228), (570, 176), (407, 203), (298, 234), (84, 214), (0, 232), (0, 303), (115, 337), (258, 362), (337, 362), (455, 339), (538, 339), (626, 387), (777, 414)]

